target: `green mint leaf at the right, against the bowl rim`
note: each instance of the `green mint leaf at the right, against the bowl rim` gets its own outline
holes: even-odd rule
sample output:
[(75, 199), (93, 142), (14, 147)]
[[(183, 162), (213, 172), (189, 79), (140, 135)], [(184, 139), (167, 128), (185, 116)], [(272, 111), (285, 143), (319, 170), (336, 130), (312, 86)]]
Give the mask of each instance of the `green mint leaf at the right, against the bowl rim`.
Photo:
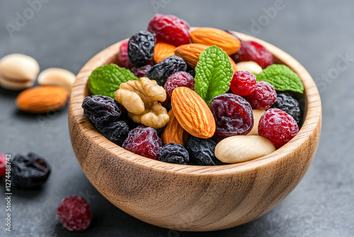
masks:
[(257, 81), (269, 82), (277, 91), (304, 92), (300, 77), (286, 65), (270, 65), (256, 77)]

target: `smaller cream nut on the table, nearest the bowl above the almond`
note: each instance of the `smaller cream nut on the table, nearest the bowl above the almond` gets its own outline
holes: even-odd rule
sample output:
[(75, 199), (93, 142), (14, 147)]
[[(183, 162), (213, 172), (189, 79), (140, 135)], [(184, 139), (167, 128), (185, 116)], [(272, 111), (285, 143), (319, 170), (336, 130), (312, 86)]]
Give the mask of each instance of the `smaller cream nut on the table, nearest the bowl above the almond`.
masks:
[(38, 75), (38, 83), (40, 85), (53, 85), (64, 87), (67, 91), (72, 89), (76, 76), (74, 73), (62, 68), (48, 68)]

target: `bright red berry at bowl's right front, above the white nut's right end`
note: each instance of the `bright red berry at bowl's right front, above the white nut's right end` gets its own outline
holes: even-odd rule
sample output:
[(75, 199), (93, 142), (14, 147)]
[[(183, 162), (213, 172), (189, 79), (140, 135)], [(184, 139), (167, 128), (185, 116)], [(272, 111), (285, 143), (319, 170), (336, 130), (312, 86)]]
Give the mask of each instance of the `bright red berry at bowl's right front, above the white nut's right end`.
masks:
[(295, 137), (298, 131), (295, 119), (280, 109), (265, 111), (258, 124), (259, 135), (268, 138), (277, 149)]

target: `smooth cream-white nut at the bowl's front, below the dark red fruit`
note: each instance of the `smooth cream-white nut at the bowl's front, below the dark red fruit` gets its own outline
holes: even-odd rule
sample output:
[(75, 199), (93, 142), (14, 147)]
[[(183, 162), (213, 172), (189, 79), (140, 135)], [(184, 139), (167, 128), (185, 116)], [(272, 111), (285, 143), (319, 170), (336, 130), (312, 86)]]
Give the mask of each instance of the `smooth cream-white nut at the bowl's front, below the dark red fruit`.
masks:
[(217, 143), (215, 156), (225, 163), (237, 163), (273, 153), (275, 146), (261, 136), (231, 136)]

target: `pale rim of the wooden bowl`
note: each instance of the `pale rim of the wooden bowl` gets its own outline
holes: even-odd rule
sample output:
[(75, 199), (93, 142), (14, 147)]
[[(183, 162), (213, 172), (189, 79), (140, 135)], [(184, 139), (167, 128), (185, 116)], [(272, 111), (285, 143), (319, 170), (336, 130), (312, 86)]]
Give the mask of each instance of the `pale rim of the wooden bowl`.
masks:
[[(191, 30), (193, 30), (193, 28), (191, 28)], [(115, 143), (110, 142), (102, 136), (101, 133), (98, 133), (96, 128), (94, 128), (86, 116), (84, 116), (84, 111), (81, 108), (82, 101), (85, 98), (85, 92), (87, 92), (89, 75), (91, 75), (91, 72), (97, 67), (103, 65), (103, 62), (108, 60), (114, 61), (118, 53), (119, 46), (127, 39), (121, 40), (120, 42), (105, 48), (105, 50), (102, 50), (100, 53), (92, 57), (91, 60), (89, 60), (89, 62), (81, 68), (79, 74), (76, 76), (76, 81), (72, 87), (69, 101), (69, 111), (71, 111), (69, 116), (74, 116), (74, 126), (79, 126), (79, 130), (83, 136), (86, 136), (86, 138), (88, 138), (92, 143), (98, 143), (102, 149), (108, 150), (111, 155), (115, 155), (117, 158), (125, 160), (125, 162), (131, 162), (132, 165), (139, 165), (148, 169), (178, 175), (226, 175), (234, 172), (247, 172), (249, 170), (259, 169), (263, 165), (268, 165), (271, 162), (277, 162), (283, 157), (290, 155), (290, 153), (296, 152), (297, 149), (301, 149), (301, 145), (307, 141), (310, 136), (312, 136), (312, 133), (316, 130), (315, 128), (319, 126), (319, 123), (321, 123), (321, 99), (314, 80), (311, 75), (309, 75), (309, 72), (307, 72), (307, 70), (299, 62), (297, 62), (297, 60), (274, 45), (251, 35), (246, 35), (235, 31), (233, 32), (241, 38), (241, 40), (254, 40), (264, 45), (265, 48), (267, 48), (276, 58), (292, 68), (292, 70), (299, 75), (304, 84), (304, 93), (307, 98), (307, 111), (302, 128), (299, 130), (299, 133), (292, 138), (292, 140), (278, 150), (275, 150), (275, 152), (255, 160), (228, 165), (177, 165), (144, 158), (140, 155), (136, 155), (135, 153), (131, 153), (130, 151), (115, 145)], [(101, 159), (105, 159), (105, 157), (101, 157)]]

